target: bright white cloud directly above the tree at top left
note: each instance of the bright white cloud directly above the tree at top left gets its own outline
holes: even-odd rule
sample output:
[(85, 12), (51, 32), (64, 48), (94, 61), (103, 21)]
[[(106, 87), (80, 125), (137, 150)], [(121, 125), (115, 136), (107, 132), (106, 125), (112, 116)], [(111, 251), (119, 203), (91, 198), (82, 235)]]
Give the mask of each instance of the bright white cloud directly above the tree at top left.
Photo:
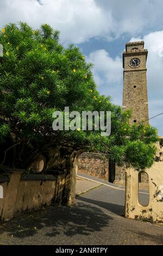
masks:
[[(49, 23), (61, 31), (62, 42), (80, 43), (106, 34), (111, 26), (111, 12), (107, 19), (94, 0), (1, 0), (0, 27), (5, 23), (26, 21), (33, 27)], [(106, 22), (107, 21), (107, 22)]]

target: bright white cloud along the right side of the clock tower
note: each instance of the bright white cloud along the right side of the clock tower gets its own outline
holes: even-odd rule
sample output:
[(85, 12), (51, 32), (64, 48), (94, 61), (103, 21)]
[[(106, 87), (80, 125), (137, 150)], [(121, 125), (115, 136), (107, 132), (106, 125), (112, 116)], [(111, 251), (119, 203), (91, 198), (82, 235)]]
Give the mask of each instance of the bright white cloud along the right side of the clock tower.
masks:
[[(130, 41), (145, 41), (145, 48), (148, 50), (147, 58), (147, 87), (148, 87), (148, 108), (149, 118), (163, 112), (163, 31), (155, 31), (145, 35), (143, 39), (131, 38)], [(149, 122), (163, 135), (163, 115), (152, 118)]]

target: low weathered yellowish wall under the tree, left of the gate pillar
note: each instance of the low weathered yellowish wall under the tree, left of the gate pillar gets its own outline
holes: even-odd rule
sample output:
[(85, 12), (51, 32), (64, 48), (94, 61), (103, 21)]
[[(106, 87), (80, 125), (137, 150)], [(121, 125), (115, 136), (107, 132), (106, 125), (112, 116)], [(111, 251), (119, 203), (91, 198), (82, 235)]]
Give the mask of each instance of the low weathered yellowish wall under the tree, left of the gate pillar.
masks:
[(60, 181), (54, 175), (13, 173), (0, 176), (3, 198), (0, 219), (9, 220), (17, 212), (39, 209), (56, 200)]

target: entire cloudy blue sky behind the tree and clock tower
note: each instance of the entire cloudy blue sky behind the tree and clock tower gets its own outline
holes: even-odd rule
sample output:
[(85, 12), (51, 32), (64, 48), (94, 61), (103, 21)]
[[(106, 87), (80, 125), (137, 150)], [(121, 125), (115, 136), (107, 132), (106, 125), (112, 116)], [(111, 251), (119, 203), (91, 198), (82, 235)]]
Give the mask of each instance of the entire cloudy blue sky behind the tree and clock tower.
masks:
[[(122, 52), (126, 42), (144, 40), (148, 49), (149, 118), (163, 112), (162, 0), (0, 0), (0, 28), (26, 21), (34, 29), (48, 23), (60, 42), (85, 54), (98, 90), (122, 106)], [(150, 120), (163, 136), (163, 115)]]

